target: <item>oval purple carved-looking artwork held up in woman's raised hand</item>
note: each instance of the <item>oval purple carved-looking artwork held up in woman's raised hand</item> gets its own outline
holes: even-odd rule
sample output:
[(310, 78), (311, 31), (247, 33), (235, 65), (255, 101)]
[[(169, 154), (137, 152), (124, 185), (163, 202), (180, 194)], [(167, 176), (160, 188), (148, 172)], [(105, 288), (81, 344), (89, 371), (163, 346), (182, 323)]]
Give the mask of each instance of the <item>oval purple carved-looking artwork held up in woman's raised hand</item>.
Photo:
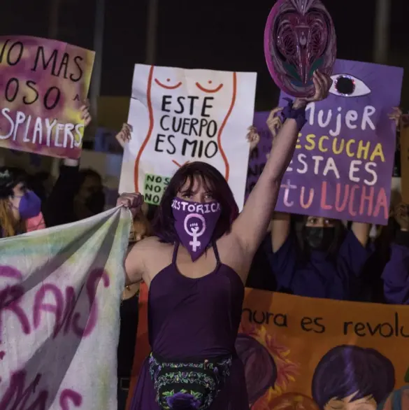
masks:
[(264, 54), (275, 84), (293, 97), (314, 93), (313, 73), (331, 75), (336, 34), (320, 0), (278, 0), (268, 15)]

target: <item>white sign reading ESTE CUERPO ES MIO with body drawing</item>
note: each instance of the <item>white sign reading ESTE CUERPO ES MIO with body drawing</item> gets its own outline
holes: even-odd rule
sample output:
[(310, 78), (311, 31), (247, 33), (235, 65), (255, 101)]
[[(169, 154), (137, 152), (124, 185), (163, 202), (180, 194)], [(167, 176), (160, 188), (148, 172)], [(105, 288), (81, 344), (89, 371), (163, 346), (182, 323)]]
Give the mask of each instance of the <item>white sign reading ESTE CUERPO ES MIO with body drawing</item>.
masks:
[(186, 162), (212, 164), (243, 207), (256, 73), (136, 64), (120, 192), (138, 191), (157, 205)]

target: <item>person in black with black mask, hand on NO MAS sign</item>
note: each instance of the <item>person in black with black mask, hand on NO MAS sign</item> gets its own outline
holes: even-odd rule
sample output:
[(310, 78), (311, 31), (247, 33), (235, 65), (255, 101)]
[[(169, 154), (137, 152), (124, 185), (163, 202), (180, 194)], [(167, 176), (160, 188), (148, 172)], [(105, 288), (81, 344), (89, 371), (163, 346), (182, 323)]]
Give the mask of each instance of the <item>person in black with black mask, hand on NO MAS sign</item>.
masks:
[[(84, 127), (91, 122), (89, 106), (81, 108)], [(79, 160), (65, 159), (43, 207), (48, 227), (89, 218), (103, 211), (105, 197), (101, 176), (92, 169), (79, 169)]]

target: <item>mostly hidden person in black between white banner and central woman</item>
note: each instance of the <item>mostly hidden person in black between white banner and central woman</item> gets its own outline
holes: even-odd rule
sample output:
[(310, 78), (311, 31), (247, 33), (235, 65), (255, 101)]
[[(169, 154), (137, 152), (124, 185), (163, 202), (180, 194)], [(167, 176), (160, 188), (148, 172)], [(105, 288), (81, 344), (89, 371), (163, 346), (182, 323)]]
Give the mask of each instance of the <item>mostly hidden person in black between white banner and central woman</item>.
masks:
[[(148, 236), (152, 236), (152, 228), (143, 212), (140, 212), (134, 218), (129, 234), (129, 246)], [(120, 306), (120, 341), (117, 348), (118, 410), (125, 410), (126, 408), (131, 382), (136, 332), (138, 330), (138, 295), (139, 283), (127, 285), (122, 294), (122, 303)]]

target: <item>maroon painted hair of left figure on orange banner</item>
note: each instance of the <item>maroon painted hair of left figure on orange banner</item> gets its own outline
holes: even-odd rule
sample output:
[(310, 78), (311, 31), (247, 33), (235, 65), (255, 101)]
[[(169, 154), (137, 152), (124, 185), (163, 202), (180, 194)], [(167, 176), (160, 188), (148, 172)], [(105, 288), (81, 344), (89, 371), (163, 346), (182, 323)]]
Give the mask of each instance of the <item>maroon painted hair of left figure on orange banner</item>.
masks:
[(270, 352), (254, 337), (239, 333), (236, 351), (245, 370), (245, 384), (250, 405), (262, 397), (277, 380), (277, 366)]

